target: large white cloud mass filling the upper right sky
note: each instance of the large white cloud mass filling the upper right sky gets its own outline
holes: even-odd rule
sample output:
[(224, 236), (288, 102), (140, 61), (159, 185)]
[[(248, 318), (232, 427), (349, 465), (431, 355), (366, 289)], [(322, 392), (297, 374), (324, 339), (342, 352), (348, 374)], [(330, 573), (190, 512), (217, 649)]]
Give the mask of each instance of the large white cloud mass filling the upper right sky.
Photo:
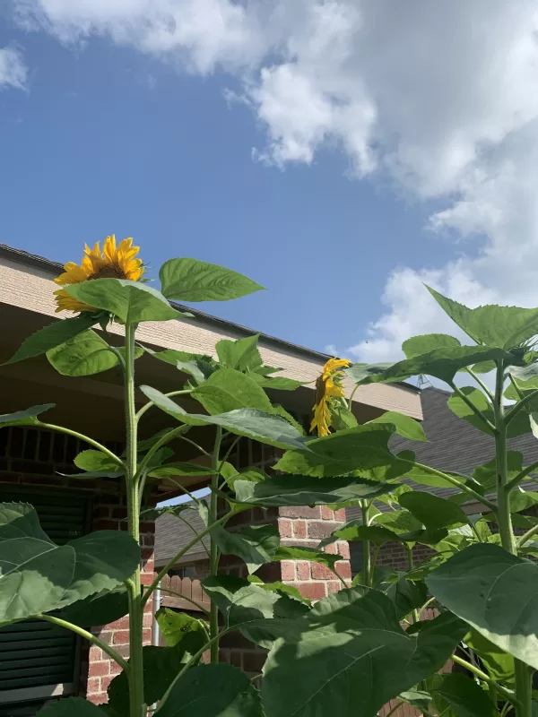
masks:
[(13, 2), (64, 42), (106, 35), (188, 72), (234, 73), (265, 163), (332, 145), (351, 175), (443, 205), (430, 229), (473, 242), (445, 266), (395, 269), (357, 357), (451, 330), (422, 281), (470, 305), (538, 305), (538, 0)]

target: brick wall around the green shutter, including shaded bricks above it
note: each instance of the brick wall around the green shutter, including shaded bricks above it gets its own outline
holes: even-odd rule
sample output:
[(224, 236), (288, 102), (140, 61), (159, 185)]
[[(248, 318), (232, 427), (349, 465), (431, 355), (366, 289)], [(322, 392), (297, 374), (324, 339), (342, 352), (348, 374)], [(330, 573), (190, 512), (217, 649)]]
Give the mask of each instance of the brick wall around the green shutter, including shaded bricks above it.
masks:
[[(120, 452), (118, 445), (106, 444)], [(53, 488), (58, 493), (73, 493), (88, 497), (88, 531), (126, 530), (126, 498), (114, 480), (74, 481), (58, 473), (72, 473), (76, 454), (90, 446), (71, 436), (52, 433), (31, 427), (11, 427), (0, 430), (0, 500), (9, 500), (10, 492), (31, 492)], [(2, 489), (4, 487), (4, 490)], [(142, 524), (143, 584), (153, 579), (154, 524)], [(152, 600), (144, 611), (144, 643), (152, 640)], [(94, 635), (117, 652), (128, 655), (128, 618), (122, 618), (107, 626), (95, 627)], [(106, 701), (109, 682), (119, 669), (100, 648), (82, 643), (81, 678), (79, 694), (95, 704)]]

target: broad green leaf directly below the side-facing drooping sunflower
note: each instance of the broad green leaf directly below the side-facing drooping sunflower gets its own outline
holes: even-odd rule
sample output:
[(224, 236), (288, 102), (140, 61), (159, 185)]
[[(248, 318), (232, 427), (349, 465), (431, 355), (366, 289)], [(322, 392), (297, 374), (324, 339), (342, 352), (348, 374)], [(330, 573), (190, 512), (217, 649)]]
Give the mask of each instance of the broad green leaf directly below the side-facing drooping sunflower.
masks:
[(311, 453), (288, 451), (276, 464), (277, 471), (316, 478), (342, 476), (351, 471), (364, 478), (393, 479), (408, 470), (387, 448), (394, 427), (367, 423), (357, 428), (308, 441)]

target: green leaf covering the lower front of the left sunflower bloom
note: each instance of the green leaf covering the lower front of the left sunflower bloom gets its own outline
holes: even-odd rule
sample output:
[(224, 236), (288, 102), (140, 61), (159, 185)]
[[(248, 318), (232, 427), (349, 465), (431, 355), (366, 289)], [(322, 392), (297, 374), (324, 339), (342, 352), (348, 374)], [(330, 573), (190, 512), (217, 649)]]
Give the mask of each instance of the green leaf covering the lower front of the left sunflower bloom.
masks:
[(160, 291), (127, 279), (96, 279), (70, 284), (65, 291), (78, 301), (114, 314), (125, 324), (169, 321), (181, 315)]

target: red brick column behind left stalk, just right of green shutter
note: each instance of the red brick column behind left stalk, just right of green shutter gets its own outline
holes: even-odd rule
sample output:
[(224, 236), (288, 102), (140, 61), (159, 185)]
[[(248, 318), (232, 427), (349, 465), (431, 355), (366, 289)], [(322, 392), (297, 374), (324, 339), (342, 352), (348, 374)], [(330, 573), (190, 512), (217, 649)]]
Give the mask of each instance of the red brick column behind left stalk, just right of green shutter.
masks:
[[(126, 530), (125, 497), (114, 493), (103, 493), (95, 497), (92, 531)], [(154, 577), (153, 544), (155, 524), (141, 523), (142, 583), (150, 585)], [(152, 644), (153, 600), (147, 601), (143, 611), (143, 644)], [(122, 656), (129, 656), (129, 618), (91, 629), (104, 643), (112, 645)], [(93, 704), (107, 702), (107, 688), (112, 679), (121, 672), (115, 661), (99, 647), (91, 645), (86, 653), (86, 666), (82, 663), (82, 680), (88, 675), (86, 698)]]

